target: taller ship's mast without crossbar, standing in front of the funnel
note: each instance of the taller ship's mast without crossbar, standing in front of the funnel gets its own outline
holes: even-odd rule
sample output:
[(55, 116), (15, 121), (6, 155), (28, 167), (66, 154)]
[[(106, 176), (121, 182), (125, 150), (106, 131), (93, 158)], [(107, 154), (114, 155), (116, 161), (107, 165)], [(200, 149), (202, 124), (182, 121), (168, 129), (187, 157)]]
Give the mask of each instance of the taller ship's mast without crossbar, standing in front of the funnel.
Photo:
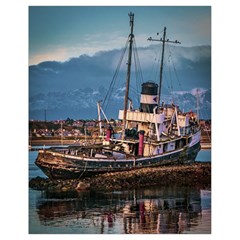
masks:
[(127, 78), (126, 78), (126, 92), (124, 98), (124, 112), (123, 112), (123, 125), (122, 125), (122, 140), (124, 140), (125, 128), (126, 128), (126, 118), (127, 118), (127, 108), (128, 108), (128, 95), (129, 95), (129, 85), (130, 85), (130, 77), (131, 77), (131, 63), (132, 63), (132, 45), (133, 45), (133, 25), (134, 25), (134, 14), (130, 12), (128, 14), (130, 17), (130, 28), (131, 32), (128, 36), (129, 38), (129, 52), (128, 52), (128, 62), (127, 62)]

